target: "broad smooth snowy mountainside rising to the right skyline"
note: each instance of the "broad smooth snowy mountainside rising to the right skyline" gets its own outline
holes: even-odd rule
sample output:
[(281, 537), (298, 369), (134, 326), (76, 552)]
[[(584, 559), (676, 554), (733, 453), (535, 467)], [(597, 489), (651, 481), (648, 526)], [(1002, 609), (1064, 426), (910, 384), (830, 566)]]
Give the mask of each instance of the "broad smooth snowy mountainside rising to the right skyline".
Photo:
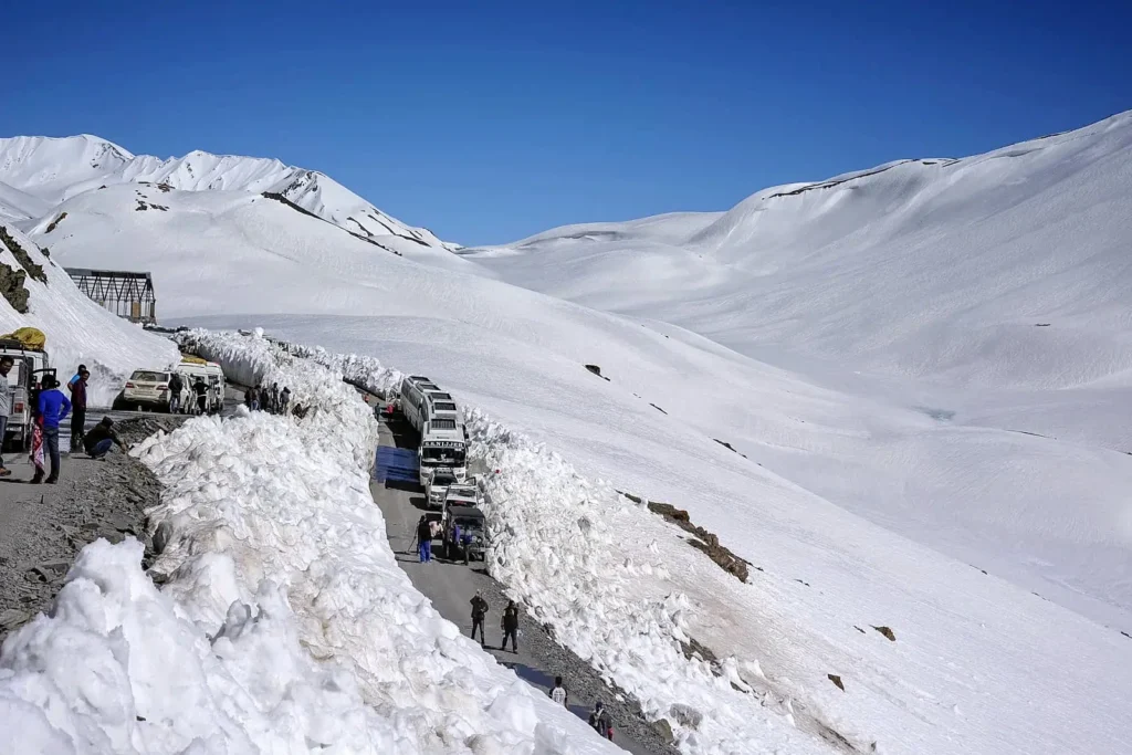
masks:
[(964, 160), (760, 191), (718, 216), (466, 250), (504, 280), (775, 350), (986, 387), (1132, 384), (1132, 112)]

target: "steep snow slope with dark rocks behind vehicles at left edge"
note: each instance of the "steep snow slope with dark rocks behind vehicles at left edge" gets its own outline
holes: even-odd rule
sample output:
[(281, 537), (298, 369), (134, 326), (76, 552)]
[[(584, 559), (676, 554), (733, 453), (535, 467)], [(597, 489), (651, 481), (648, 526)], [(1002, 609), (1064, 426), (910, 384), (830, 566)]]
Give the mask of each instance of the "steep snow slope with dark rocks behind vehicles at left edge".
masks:
[(61, 379), (86, 364), (92, 406), (109, 406), (135, 369), (161, 369), (180, 359), (166, 338), (91, 301), (43, 249), (8, 223), (0, 224), (0, 277), (6, 286), (0, 333), (25, 326), (43, 331), (50, 363)]

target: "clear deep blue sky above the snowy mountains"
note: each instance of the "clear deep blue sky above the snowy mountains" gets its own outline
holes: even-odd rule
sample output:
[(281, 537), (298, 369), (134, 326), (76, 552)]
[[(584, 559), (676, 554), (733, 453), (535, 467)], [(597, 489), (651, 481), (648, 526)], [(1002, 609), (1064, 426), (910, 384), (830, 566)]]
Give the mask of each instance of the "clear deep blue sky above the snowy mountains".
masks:
[(1132, 108), (1130, 3), (131, 5), (7, 7), (0, 135), (278, 157), (463, 243)]

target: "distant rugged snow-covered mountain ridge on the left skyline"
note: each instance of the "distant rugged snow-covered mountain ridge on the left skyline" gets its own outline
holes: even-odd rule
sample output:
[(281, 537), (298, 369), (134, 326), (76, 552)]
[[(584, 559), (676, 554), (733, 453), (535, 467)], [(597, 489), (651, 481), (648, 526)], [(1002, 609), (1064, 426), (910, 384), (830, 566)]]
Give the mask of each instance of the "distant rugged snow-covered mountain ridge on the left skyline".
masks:
[(5, 185), (50, 206), (115, 183), (152, 183), (162, 190), (269, 192), (359, 237), (453, 248), (428, 229), (389, 217), (325, 174), (277, 160), (200, 151), (162, 160), (134, 155), (89, 135), (0, 139), (0, 212), (6, 212), (3, 206), (25, 213), (25, 217), (43, 212), (18, 197), (6, 201)]

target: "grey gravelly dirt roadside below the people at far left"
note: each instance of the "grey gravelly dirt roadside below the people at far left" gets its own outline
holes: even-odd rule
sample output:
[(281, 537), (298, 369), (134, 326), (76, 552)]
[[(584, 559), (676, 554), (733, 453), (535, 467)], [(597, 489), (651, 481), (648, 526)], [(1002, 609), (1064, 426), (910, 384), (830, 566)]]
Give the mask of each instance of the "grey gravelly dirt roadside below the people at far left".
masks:
[[(114, 427), (136, 443), (182, 418), (139, 418)], [(146, 539), (146, 509), (161, 498), (157, 478), (137, 460), (111, 451), (105, 461), (66, 456), (59, 484), (25, 482), (31, 467), (8, 460), (15, 474), (0, 484), (0, 640), (50, 609), (76, 554), (100, 538), (134, 537), (146, 544), (143, 566), (153, 558)]]

